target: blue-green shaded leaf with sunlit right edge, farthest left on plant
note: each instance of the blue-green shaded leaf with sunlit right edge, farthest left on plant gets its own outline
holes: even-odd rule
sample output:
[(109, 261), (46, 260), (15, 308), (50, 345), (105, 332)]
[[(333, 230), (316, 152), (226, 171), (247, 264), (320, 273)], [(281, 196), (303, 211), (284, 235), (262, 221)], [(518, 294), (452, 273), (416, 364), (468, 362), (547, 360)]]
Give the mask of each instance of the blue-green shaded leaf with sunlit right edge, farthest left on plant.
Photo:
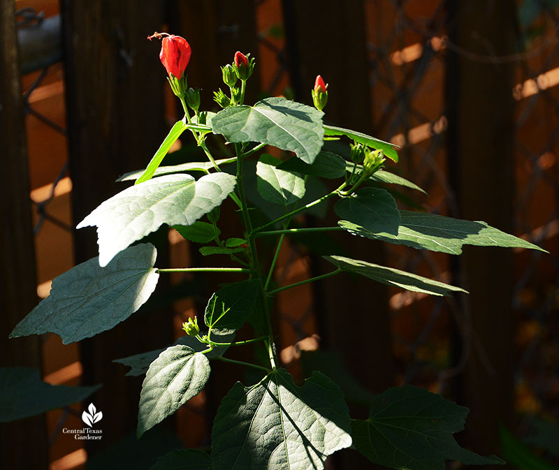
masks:
[(159, 274), (157, 250), (138, 244), (100, 267), (98, 258), (74, 266), (52, 281), (50, 295), (35, 307), (10, 337), (53, 332), (64, 344), (110, 330), (150, 298)]

